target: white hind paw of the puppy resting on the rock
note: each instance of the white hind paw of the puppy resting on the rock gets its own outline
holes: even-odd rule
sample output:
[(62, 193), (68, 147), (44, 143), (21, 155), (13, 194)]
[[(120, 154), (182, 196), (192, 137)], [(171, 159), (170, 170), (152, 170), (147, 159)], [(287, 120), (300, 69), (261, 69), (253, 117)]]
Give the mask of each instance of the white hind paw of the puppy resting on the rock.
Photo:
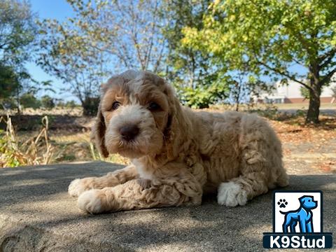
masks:
[(235, 182), (221, 183), (218, 188), (217, 201), (226, 207), (244, 206), (247, 202), (246, 190)]

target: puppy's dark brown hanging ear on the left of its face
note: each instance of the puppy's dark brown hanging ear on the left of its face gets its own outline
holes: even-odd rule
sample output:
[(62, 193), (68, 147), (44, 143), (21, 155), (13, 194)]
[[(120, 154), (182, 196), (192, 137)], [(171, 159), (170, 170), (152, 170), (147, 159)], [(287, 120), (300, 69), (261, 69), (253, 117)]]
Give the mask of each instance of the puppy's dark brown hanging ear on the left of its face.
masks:
[[(105, 85), (102, 85), (102, 92), (104, 92), (104, 89)], [(107, 151), (105, 146), (106, 125), (104, 116), (102, 114), (101, 102), (99, 103), (97, 117), (92, 127), (91, 140), (94, 141), (99, 153), (101, 153), (104, 156), (104, 158), (107, 158), (109, 156), (109, 151)]]

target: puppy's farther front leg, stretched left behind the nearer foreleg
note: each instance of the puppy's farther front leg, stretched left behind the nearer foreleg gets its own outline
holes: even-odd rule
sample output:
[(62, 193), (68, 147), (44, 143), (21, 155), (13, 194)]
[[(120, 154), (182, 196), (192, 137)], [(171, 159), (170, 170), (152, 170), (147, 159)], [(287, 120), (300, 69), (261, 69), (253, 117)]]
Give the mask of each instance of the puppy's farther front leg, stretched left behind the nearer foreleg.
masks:
[(70, 183), (68, 193), (73, 197), (78, 197), (86, 190), (117, 186), (131, 179), (136, 179), (137, 176), (137, 169), (134, 165), (129, 165), (115, 172), (109, 172), (105, 176), (75, 179)]

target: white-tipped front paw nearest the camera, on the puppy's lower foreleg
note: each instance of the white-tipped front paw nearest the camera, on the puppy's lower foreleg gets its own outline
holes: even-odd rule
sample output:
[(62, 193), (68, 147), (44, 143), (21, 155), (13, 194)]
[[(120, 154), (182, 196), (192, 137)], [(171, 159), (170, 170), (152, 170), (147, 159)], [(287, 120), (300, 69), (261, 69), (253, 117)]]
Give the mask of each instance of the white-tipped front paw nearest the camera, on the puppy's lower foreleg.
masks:
[(90, 214), (102, 213), (103, 207), (99, 194), (98, 189), (92, 189), (82, 193), (78, 197), (78, 207)]

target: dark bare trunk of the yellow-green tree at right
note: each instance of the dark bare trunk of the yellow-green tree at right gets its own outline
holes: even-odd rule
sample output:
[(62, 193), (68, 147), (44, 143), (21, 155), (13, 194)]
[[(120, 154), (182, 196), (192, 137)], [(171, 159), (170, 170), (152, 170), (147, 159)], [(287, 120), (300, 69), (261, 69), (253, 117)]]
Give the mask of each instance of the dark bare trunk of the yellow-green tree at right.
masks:
[(321, 87), (319, 83), (311, 85), (311, 90), (309, 90), (309, 109), (306, 117), (306, 123), (318, 123), (318, 115), (320, 113), (321, 105), (320, 95)]

